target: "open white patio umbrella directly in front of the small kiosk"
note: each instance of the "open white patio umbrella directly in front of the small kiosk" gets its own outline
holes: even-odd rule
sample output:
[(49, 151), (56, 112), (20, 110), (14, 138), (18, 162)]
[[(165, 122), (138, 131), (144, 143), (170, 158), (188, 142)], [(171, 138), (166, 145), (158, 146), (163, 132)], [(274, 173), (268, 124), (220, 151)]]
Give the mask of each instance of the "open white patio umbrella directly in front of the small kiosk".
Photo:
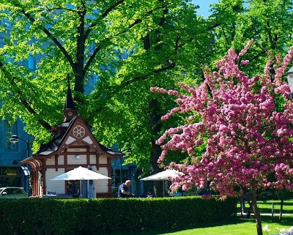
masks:
[[(84, 167), (77, 167), (50, 180), (111, 180), (111, 178)], [(80, 182), (80, 187), (82, 187), (82, 182)], [(82, 189), (80, 189), (80, 193), (82, 195)]]

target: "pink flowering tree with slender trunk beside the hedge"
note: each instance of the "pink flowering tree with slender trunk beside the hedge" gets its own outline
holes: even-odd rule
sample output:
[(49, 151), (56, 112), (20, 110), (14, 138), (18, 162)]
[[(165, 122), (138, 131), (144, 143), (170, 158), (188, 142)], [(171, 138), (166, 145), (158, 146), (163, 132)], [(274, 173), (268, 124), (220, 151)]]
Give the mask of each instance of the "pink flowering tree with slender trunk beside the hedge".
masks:
[[(262, 75), (248, 77), (240, 68), (249, 66), (249, 61), (240, 58), (252, 43), (238, 55), (228, 50), (216, 63), (218, 71), (205, 71), (205, 82), (197, 88), (182, 85), (183, 93), (151, 90), (177, 97), (178, 106), (162, 120), (190, 113), (185, 125), (168, 129), (157, 140), (162, 147), (158, 163), (164, 163), (169, 151), (183, 151), (191, 157), (190, 162), (169, 165), (182, 172), (171, 189), (201, 188), (210, 182), (221, 198), (249, 190), (257, 232), (263, 234), (257, 189), (293, 189), (293, 102), (283, 77), (293, 46), (283, 61), (268, 59)], [(202, 144), (205, 153), (198, 157), (195, 153)]]

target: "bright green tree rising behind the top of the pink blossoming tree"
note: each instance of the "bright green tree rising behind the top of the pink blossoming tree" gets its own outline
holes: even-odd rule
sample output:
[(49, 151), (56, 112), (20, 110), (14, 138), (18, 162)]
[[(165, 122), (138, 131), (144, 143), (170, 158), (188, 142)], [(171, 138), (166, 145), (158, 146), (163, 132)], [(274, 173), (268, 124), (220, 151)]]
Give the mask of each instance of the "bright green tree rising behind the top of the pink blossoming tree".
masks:
[(268, 53), (284, 56), (293, 44), (292, 0), (222, 0), (212, 5), (211, 12), (209, 21), (215, 26), (211, 61), (220, 59), (229, 48), (239, 52), (249, 39), (254, 39), (247, 57), (258, 62), (245, 72), (261, 73)]

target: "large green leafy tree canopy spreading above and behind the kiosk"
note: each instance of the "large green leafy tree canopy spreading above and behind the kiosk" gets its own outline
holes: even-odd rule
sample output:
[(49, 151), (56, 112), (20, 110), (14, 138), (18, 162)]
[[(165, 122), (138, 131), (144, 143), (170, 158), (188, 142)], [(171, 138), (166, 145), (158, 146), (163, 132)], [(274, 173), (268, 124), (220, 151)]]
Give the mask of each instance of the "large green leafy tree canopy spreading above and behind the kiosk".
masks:
[[(131, 148), (130, 160), (160, 171), (155, 140), (173, 101), (149, 88), (200, 79), (211, 37), (196, 7), (180, 0), (1, 0), (0, 10), (2, 118), (19, 117), (37, 141), (48, 140), (62, 122), (69, 77), (97, 139)], [(32, 58), (35, 70), (26, 66)]]

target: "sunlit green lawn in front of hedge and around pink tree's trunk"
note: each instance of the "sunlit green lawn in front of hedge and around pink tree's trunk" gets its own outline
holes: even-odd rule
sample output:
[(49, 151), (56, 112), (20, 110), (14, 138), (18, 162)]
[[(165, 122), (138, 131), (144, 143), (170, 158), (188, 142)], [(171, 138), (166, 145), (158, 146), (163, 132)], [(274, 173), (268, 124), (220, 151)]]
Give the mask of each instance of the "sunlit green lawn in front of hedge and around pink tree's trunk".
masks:
[[(261, 213), (272, 213), (272, 203), (274, 203), (275, 213), (279, 212), (280, 202), (279, 201), (267, 201), (265, 203), (259, 202), (258, 208), (261, 210)], [(248, 205), (247, 205), (248, 206)], [(293, 226), (293, 200), (287, 200), (284, 203), (284, 212), (290, 214), (283, 214), (283, 220), (281, 223), (278, 223), (278, 215), (274, 216), (274, 223), (272, 222), (272, 216), (261, 216), (262, 225), (269, 225), (271, 233), (277, 233), (276, 227), (278, 228), (289, 228)], [(240, 212), (240, 205), (238, 205), (238, 212)], [(243, 214), (245, 217), (245, 214)], [(129, 233), (128, 233), (129, 234)], [(141, 232), (135, 234), (146, 234), (146, 235), (155, 235), (155, 234), (176, 234), (176, 235), (254, 235), (256, 234), (256, 223), (254, 216), (252, 218), (240, 218), (237, 216), (235, 220), (231, 223), (208, 223), (202, 224), (193, 227), (180, 227), (173, 228), (165, 231), (155, 231), (155, 232)]]

